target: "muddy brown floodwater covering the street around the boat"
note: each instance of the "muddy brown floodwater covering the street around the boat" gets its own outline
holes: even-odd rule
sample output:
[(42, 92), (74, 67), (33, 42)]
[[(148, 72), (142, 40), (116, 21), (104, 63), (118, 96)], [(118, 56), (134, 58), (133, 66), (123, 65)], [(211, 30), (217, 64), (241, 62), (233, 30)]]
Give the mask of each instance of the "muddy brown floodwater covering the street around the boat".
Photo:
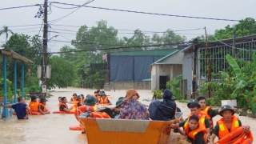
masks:
[[(52, 113), (58, 111), (58, 97), (66, 96), (68, 100), (73, 93), (77, 94), (94, 94), (95, 90), (79, 89), (69, 87), (68, 89), (56, 89), (51, 92), (54, 96), (48, 98), (46, 107)], [(110, 98), (112, 106), (119, 97), (126, 95), (126, 90), (106, 91), (114, 98)], [(138, 90), (141, 98), (140, 102), (149, 105), (150, 102), (142, 101), (145, 98), (151, 98), (150, 90)], [(28, 104), (29, 101), (26, 101)], [(186, 118), (190, 110), (185, 103), (178, 103), (181, 108), (183, 117)], [(69, 105), (71, 106), (71, 105)], [(220, 118), (214, 118), (214, 123)], [(239, 117), (243, 125), (250, 125), (253, 130), (254, 138), (256, 138), (255, 119), (247, 117)], [(69, 130), (70, 126), (78, 126), (78, 121), (74, 118), (74, 114), (46, 114), (46, 115), (31, 115), (29, 120), (17, 120), (16, 116), (0, 120), (0, 143), (87, 143), (86, 134), (81, 134), (81, 131)]]

